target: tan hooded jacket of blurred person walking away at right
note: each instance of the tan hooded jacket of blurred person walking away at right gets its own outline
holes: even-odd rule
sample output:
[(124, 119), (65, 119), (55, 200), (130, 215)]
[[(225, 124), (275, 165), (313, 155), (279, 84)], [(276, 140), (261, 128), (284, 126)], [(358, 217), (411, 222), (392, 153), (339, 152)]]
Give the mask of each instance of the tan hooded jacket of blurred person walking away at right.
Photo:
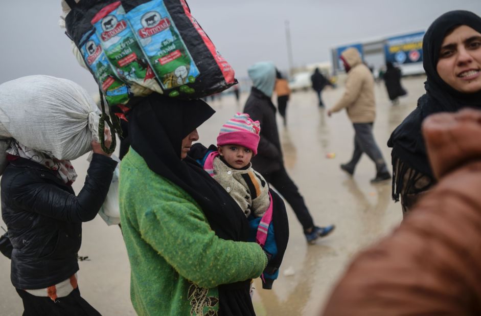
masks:
[(362, 63), (357, 49), (351, 47), (343, 51), (342, 58), (349, 64), (345, 92), (330, 111), (338, 112), (346, 108), (352, 123), (373, 123), (376, 118), (374, 100), (374, 77)]

